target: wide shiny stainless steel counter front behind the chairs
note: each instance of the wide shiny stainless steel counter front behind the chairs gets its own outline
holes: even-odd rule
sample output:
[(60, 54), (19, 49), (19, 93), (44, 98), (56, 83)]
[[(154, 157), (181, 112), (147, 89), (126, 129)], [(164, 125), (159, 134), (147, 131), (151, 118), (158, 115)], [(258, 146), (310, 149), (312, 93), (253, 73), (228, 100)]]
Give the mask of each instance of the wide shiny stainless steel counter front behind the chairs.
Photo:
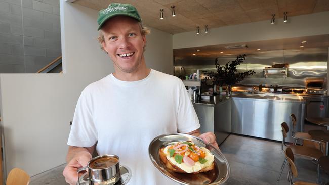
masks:
[[(290, 114), (297, 117), (295, 132), (303, 131), (306, 101), (302, 96), (285, 94), (234, 93), (232, 97), (232, 133), (282, 141), (281, 123), (289, 125)], [(287, 137), (287, 142), (293, 142)]]

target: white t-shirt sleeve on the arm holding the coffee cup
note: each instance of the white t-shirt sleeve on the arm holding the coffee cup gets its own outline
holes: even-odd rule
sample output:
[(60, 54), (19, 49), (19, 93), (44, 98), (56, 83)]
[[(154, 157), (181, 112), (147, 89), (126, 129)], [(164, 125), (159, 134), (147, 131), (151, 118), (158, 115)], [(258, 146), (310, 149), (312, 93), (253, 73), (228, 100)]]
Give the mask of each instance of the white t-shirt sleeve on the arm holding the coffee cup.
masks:
[(76, 104), (73, 122), (67, 145), (91, 147), (97, 141), (97, 131), (93, 120), (92, 97), (88, 90), (83, 90)]

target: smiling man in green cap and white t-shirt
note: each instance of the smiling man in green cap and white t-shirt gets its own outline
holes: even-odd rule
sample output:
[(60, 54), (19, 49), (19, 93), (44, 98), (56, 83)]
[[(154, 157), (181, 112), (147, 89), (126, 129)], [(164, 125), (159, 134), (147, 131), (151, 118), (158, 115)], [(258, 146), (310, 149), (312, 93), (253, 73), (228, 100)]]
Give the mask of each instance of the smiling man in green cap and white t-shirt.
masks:
[(101, 48), (114, 73), (88, 85), (79, 97), (68, 139), (66, 182), (97, 153), (116, 154), (132, 169), (128, 184), (175, 184), (151, 163), (148, 145), (165, 133), (187, 133), (218, 146), (214, 133), (201, 134), (198, 118), (179, 78), (146, 67), (146, 34), (135, 7), (113, 3), (98, 17)]

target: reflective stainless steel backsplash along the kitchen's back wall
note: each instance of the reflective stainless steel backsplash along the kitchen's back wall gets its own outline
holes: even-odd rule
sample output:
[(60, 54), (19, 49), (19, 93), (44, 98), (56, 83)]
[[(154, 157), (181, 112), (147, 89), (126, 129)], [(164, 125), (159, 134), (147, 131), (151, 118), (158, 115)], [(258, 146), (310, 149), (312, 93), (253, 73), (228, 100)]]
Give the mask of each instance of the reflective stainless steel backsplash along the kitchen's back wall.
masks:
[[(241, 53), (242, 54), (242, 53)], [(238, 54), (219, 56), (221, 65), (236, 59)], [(216, 71), (215, 59), (210, 56), (190, 56), (174, 58), (174, 75), (189, 75), (200, 70)], [(246, 77), (239, 84), (241, 85), (279, 85), (285, 87), (305, 87), (305, 78), (324, 78), (324, 88), (326, 88), (328, 62), (328, 48), (308, 48), (295, 50), (274, 50), (255, 52), (247, 54), (246, 60), (237, 66), (238, 72), (254, 70), (256, 74)], [(267, 77), (263, 76), (263, 69), (273, 64), (289, 64), (288, 77)], [(183, 68), (182, 68), (183, 67)], [(185, 70), (185, 73), (184, 73)]]

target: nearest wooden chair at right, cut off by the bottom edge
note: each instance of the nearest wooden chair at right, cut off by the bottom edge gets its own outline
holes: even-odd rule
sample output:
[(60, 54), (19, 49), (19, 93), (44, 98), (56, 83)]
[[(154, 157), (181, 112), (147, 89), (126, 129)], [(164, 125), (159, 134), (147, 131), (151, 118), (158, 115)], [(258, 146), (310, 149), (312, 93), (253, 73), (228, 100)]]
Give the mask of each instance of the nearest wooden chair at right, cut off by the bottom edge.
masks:
[(288, 161), (289, 169), (290, 169), (290, 174), (289, 174), (290, 184), (295, 184), (295, 185), (316, 185), (316, 183), (309, 183), (309, 182), (303, 182), (303, 181), (296, 181), (296, 182), (293, 183), (293, 176), (297, 177), (298, 172), (297, 172), (296, 165), (294, 163), (295, 162), (294, 153), (293, 153), (293, 151), (290, 147), (288, 147), (285, 150), (285, 157)]

